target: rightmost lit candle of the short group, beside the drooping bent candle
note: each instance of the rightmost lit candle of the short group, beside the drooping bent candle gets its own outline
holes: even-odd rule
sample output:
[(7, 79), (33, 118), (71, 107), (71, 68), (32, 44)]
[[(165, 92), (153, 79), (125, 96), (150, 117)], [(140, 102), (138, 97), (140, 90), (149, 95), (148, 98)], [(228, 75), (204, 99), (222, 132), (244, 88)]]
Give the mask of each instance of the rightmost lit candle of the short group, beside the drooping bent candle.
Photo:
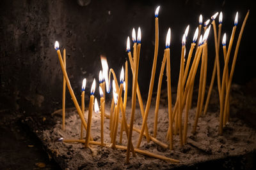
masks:
[(120, 110), (120, 102), (122, 98), (122, 92), (123, 92), (123, 87), (124, 87), (124, 67), (122, 67), (121, 74), (120, 74), (120, 88), (119, 88), (119, 93), (118, 93), (118, 101), (117, 101), (117, 111), (116, 111), (116, 124), (115, 124), (115, 131), (114, 131), (114, 136), (113, 136), (113, 145), (112, 147), (115, 148), (116, 145), (116, 134), (117, 134), (117, 129), (118, 129), (118, 122), (119, 122), (119, 110)]

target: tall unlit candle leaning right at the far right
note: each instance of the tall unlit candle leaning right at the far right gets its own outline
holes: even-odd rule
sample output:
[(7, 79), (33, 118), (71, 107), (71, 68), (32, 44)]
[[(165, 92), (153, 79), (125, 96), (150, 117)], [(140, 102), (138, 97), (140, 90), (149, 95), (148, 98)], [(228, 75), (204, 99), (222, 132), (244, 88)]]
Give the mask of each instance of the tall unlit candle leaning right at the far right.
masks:
[[(226, 92), (226, 96), (225, 96), (225, 106), (224, 106), (224, 111), (225, 112), (224, 112), (224, 114), (226, 114), (226, 111), (227, 111), (227, 108), (228, 108), (228, 104), (229, 104), (228, 103), (228, 99), (229, 99), (228, 96), (230, 94), (230, 87), (231, 87), (232, 78), (233, 78), (234, 70), (235, 70), (235, 66), (236, 66), (237, 53), (238, 53), (238, 49), (239, 49), (239, 46), (240, 46), (241, 38), (243, 36), (244, 27), (245, 27), (246, 21), (248, 19), (249, 13), (250, 13), (250, 10), (248, 10), (247, 13), (246, 13), (246, 16), (244, 18), (243, 25), (242, 25), (241, 30), (239, 32), (239, 36), (238, 36), (237, 43), (236, 43), (236, 50), (235, 50), (235, 53), (234, 53), (234, 58), (233, 58), (233, 62), (232, 62), (230, 76), (229, 76), (229, 79), (228, 79), (227, 92)], [(237, 24), (237, 18), (235, 20), (235, 24)], [(226, 59), (227, 59), (227, 57), (226, 57)]]

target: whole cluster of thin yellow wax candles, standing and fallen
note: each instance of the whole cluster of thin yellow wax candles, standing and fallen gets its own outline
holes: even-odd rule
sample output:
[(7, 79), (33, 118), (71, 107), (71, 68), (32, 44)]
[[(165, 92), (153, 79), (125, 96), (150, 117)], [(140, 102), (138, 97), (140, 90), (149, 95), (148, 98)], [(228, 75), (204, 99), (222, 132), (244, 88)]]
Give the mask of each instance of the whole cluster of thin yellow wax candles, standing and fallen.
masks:
[[(172, 109), (172, 90), (171, 90), (171, 71), (170, 71), (170, 39), (171, 39), (171, 29), (168, 29), (167, 36), (166, 36), (166, 48), (164, 50), (164, 56), (161, 65), (161, 71), (159, 74), (159, 81), (157, 87), (157, 96), (156, 96), (156, 109), (155, 109), (155, 118), (154, 118), (154, 134), (153, 136), (148, 132), (147, 126), (147, 117), (148, 112), (150, 109), (151, 99), (152, 99), (152, 92), (154, 86), (154, 79), (156, 73), (156, 64), (157, 64), (157, 53), (158, 53), (158, 44), (159, 44), (159, 29), (158, 29), (158, 13), (159, 13), (159, 6), (155, 12), (155, 50), (154, 50), (154, 61), (152, 66), (152, 74), (150, 79), (150, 86), (148, 90), (148, 98), (146, 108), (144, 110), (143, 101), (141, 99), (140, 87), (138, 84), (138, 67), (140, 61), (140, 50), (141, 50), (141, 30), (140, 27), (138, 28), (138, 36), (136, 38), (135, 29), (132, 29), (132, 41), (133, 41), (133, 52), (131, 53), (130, 48), (130, 39), (127, 38), (127, 55), (129, 57), (130, 67), (132, 71), (132, 99), (131, 99), (131, 121), (130, 124), (127, 124), (126, 119), (126, 106), (127, 106), (127, 85), (128, 85), (128, 62), (125, 62), (125, 71), (124, 67), (122, 67), (122, 71), (120, 73), (120, 85), (118, 85), (118, 81), (116, 79), (115, 71), (113, 69), (109, 69), (108, 62), (106, 57), (101, 56), (101, 64), (102, 64), (102, 71), (99, 73), (99, 92), (100, 92), (100, 107), (98, 105), (97, 99), (94, 99), (94, 92), (96, 87), (95, 79), (92, 83), (91, 89), (91, 96), (90, 96), (90, 103), (88, 108), (88, 118), (87, 123), (84, 119), (84, 89), (86, 87), (86, 79), (83, 80), (82, 85), (82, 99), (81, 99), (81, 108), (77, 103), (76, 96), (72, 90), (70, 85), (70, 81), (68, 79), (67, 71), (65, 69), (66, 66), (66, 50), (63, 50), (63, 58), (61, 56), (61, 52), (59, 49), (59, 43), (56, 41), (55, 49), (58, 53), (58, 58), (60, 60), (61, 69), (63, 71), (63, 125), (62, 129), (65, 130), (65, 87), (67, 85), (70, 95), (72, 97), (72, 101), (76, 106), (77, 113), (81, 118), (81, 138), (80, 139), (61, 139), (61, 141), (65, 142), (81, 142), (84, 143), (85, 148), (88, 148), (89, 145), (101, 145), (106, 147), (112, 148), (120, 148), (127, 150), (127, 159), (126, 162), (129, 163), (130, 152), (135, 157), (136, 152), (141, 153), (144, 155), (148, 155), (150, 157), (156, 157), (158, 159), (163, 159), (166, 161), (171, 162), (179, 162), (179, 160), (170, 159), (168, 157), (164, 157), (161, 155), (157, 155), (154, 153), (146, 152), (145, 150), (140, 150), (140, 144), (143, 136), (146, 137), (147, 142), (154, 141), (157, 145), (162, 146), (163, 148), (168, 148), (168, 145), (156, 139), (157, 136), (157, 117), (159, 111), (159, 101), (160, 101), (160, 94), (161, 94), (161, 85), (163, 80), (163, 73), (164, 67), (166, 65), (166, 76), (167, 76), (167, 90), (168, 90), (168, 118), (169, 118), (169, 127), (168, 132), (166, 134), (166, 139), (170, 141), (169, 148), (173, 150), (173, 135), (179, 134), (180, 139), (180, 146), (186, 144), (187, 139), (187, 131), (188, 131), (188, 115), (189, 110), (191, 109), (191, 101), (192, 101), (192, 94), (193, 94), (193, 87), (195, 82), (196, 71), (198, 69), (198, 65), (201, 61), (201, 69), (200, 69), (200, 80), (199, 80), (199, 91), (198, 91), (198, 101), (196, 106), (196, 114), (195, 114), (195, 123), (193, 124), (193, 134), (196, 132), (196, 127), (198, 124), (198, 117), (200, 117), (202, 113), (202, 108), (204, 104), (204, 97), (205, 97), (205, 86), (206, 86), (206, 77), (207, 77), (207, 38), (209, 36), (209, 32), (211, 31), (211, 25), (208, 25), (210, 20), (204, 22), (204, 36), (201, 35), (202, 29), (202, 15), (199, 17), (199, 25), (196, 28), (195, 34), (193, 36), (193, 42), (191, 43), (191, 47), (188, 53), (188, 59), (186, 60), (185, 66), (185, 55), (186, 55), (186, 38), (188, 37), (189, 32), (189, 25), (182, 36), (182, 48), (181, 48), (181, 57), (180, 57), (180, 73), (179, 73), (179, 82), (178, 82), (178, 89), (177, 89), (177, 97), (175, 101), (174, 108)], [(246, 20), (249, 15), (249, 11), (244, 18), (243, 25), (241, 27), (241, 31), (239, 33), (239, 37), (237, 39), (236, 50), (234, 53), (234, 58), (232, 62), (232, 69), (229, 73), (228, 71), (228, 61), (230, 59), (230, 52), (232, 49), (232, 43), (234, 41), (234, 36), (237, 27), (237, 17), (238, 13), (236, 13), (236, 18), (234, 22), (234, 27), (232, 30), (232, 34), (230, 37), (228, 50), (226, 49), (226, 34), (223, 35), (223, 59), (225, 60), (225, 66), (223, 69), (222, 81), (220, 77), (220, 61), (219, 61), (219, 52), (220, 52), (220, 37), (221, 37), (221, 25), (222, 25), (222, 13), (220, 12), (219, 15), (219, 26), (218, 26), (218, 34), (216, 31), (216, 23), (215, 19), (219, 13), (214, 14), (211, 17), (211, 24), (214, 31), (214, 42), (215, 42), (215, 52), (216, 57), (214, 61), (214, 69), (212, 71), (212, 79), (211, 84), (209, 87), (209, 91), (207, 94), (207, 99), (205, 101), (205, 108), (204, 108), (204, 115), (207, 113), (207, 107), (209, 104), (209, 99), (211, 96), (212, 87), (214, 84), (214, 79), (217, 74), (218, 80), (218, 92), (220, 97), (220, 127), (219, 133), (220, 135), (223, 132), (223, 126), (225, 126), (228, 122), (229, 118), (229, 95), (230, 95), (230, 85), (232, 82), (232, 77), (234, 74), (234, 67), (236, 65), (237, 59), (237, 52), (239, 49), (241, 37), (243, 34), (244, 26), (246, 24)], [(198, 39), (199, 37), (199, 39)], [(197, 43), (196, 43), (197, 40)], [(194, 53), (194, 59), (190, 66), (191, 59), (193, 58), (193, 50), (196, 47), (196, 52)], [(190, 68), (190, 70), (189, 70)], [(110, 92), (111, 87), (111, 74), (113, 75), (113, 82), (112, 82), (112, 89), (113, 89), (113, 99), (111, 102), (110, 107), (110, 114), (105, 113), (105, 95), (106, 91)], [(122, 92), (124, 90), (124, 101), (122, 99)], [(136, 98), (138, 97), (138, 101), (140, 104), (140, 112), (143, 118), (143, 122), (141, 125), (141, 129), (137, 129), (133, 126), (134, 122), (134, 114), (136, 108)], [(92, 127), (92, 112), (93, 112), (93, 103), (94, 103), (94, 111), (95, 113), (100, 113), (101, 116), (101, 129), (100, 129), (100, 143), (97, 141), (93, 141), (93, 134), (91, 134), (91, 127)], [(183, 111), (184, 110), (184, 111)], [(120, 111), (122, 115), (122, 119), (119, 120)], [(182, 115), (184, 113), (184, 122), (182, 121)], [(104, 142), (104, 117), (109, 118), (109, 129), (110, 129), (110, 137), (111, 143)], [(127, 147), (122, 145), (116, 145), (116, 136), (118, 132), (118, 125), (120, 127), (120, 141), (119, 143), (122, 144), (122, 136), (123, 131), (125, 131), (127, 136)], [(183, 124), (183, 125), (182, 125)], [(86, 137), (85, 140), (83, 139), (83, 128), (86, 130)], [(183, 129), (182, 129), (183, 128)], [(134, 148), (132, 144), (132, 132), (136, 131), (140, 133), (140, 137), (138, 138), (138, 144), (136, 148)]]

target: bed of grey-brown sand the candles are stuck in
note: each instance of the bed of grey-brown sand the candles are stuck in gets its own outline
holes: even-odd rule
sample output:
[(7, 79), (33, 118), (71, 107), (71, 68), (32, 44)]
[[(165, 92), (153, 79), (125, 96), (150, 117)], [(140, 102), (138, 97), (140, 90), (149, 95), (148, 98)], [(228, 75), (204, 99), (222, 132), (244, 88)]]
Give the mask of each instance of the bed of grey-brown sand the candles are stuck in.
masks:
[[(217, 95), (218, 92), (216, 92), (216, 90), (214, 92)], [(216, 100), (215, 102), (214, 99)], [(169, 148), (162, 148), (153, 141), (147, 143), (145, 136), (143, 137), (140, 147), (141, 150), (179, 160), (179, 164), (137, 153), (136, 157), (132, 157), (131, 155), (131, 164), (126, 165), (126, 151), (121, 148), (113, 149), (110, 145), (104, 147), (99, 145), (89, 145), (90, 148), (84, 148), (84, 143), (65, 143), (63, 141), (58, 141), (59, 138), (79, 140), (81, 120), (75, 108), (67, 109), (65, 131), (61, 130), (61, 111), (54, 113), (51, 118), (48, 118), (43, 123), (43, 125), (40, 124), (40, 127), (38, 127), (38, 124), (35, 124), (35, 122), (31, 124), (31, 119), (27, 119), (28, 121), (26, 121), (26, 123), (33, 126), (34, 130), (42, 129), (42, 131), (38, 130), (36, 135), (42, 139), (43, 145), (49, 155), (51, 155), (63, 169), (175, 169), (176, 167), (198, 166), (202, 162), (214, 162), (215, 160), (218, 161), (227, 157), (237, 157), (246, 153), (255, 152), (256, 131), (244, 124), (243, 120), (240, 120), (239, 118), (231, 117), (230, 122), (227, 127), (225, 127), (225, 131), (223, 131), (223, 136), (218, 135), (220, 111), (216, 111), (216, 108), (212, 106), (212, 104), (218, 104), (218, 97), (214, 97), (214, 99), (212, 99), (213, 102), (211, 100), (211, 106), (209, 107), (207, 115), (199, 118), (195, 135), (191, 134), (191, 130), (196, 108), (189, 111), (188, 143), (186, 145), (180, 147), (179, 135), (173, 136), (174, 150), (171, 151)], [(239, 102), (239, 100), (240, 99), (233, 100), (232, 104), (236, 104), (235, 101)], [(152, 100), (152, 104), (154, 104), (154, 102), (155, 99)], [(159, 106), (157, 139), (168, 145), (169, 142), (166, 141), (166, 132), (168, 131), (167, 99), (162, 102), (166, 105), (162, 104)], [(196, 101), (193, 103), (193, 105), (195, 105)], [(131, 114), (131, 107), (129, 105), (131, 105), (131, 99), (128, 99), (127, 105), (127, 118), (129, 120)], [(109, 106), (110, 104), (107, 103), (106, 114), (109, 114)], [(87, 114), (88, 109), (85, 111), (85, 118), (87, 118)], [(142, 118), (138, 105), (136, 106), (134, 120), (134, 127), (140, 129)], [(147, 122), (148, 131), (150, 135), (152, 135), (154, 131), (154, 108), (150, 109)], [(127, 136), (125, 133), (122, 139), (122, 144), (118, 142), (120, 138), (119, 131), (120, 124), (118, 125), (116, 145), (127, 146)], [(109, 132), (109, 119), (105, 118), (104, 143), (111, 143)], [(100, 143), (100, 115), (97, 113), (93, 113), (92, 115), (92, 134), (94, 141)], [(132, 142), (134, 146), (138, 143), (136, 139), (138, 139), (139, 135), (140, 134), (136, 131), (132, 133)], [(85, 136), (86, 131), (84, 131), (84, 138)]]

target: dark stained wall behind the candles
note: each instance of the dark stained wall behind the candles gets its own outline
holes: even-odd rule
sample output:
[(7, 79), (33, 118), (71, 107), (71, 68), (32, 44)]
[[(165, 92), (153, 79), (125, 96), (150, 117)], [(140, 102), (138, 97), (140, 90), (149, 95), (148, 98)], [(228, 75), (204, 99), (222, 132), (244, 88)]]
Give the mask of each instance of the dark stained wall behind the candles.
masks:
[[(83, 2), (80, 0), (80, 2)], [(81, 3), (80, 3), (81, 4)], [(98, 80), (100, 55), (106, 55), (109, 67), (119, 78), (124, 65), (126, 39), (132, 27), (141, 27), (141, 58), (138, 81), (141, 94), (147, 97), (154, 57), (154, 12), (159, 11), (159, 57), (154, 89), (156, 90), (168, 27), (172, 29), (172, 86), (177, 86), (181, 39), (190, 25), (187, 54), (202, 13), (204, 21), (217, 11), (223, 12), (223, 32), (230, 38), (236, 11), (239, 12), (236, 38), (250, 10), (237, 57), (234, 83), (245, 84), (255, 78), (255, 7), (253, 1), (95, 1), (81, 6), (75, 0), (1, 1), (0, 2), (0, 83), (1, 105), (26, 112), (44, 112), (61, 108), (62, 81), (60, 63), (54, 42), (67, 49), (67, 72), (80, 101), (83, 78), (87, 78), (88, 99), (93, 78)], [(218, 25), (218, 17), (216, 18)], [(222, 39), (222, 36), (221, 36)], [(228, 42), (228, 41), (227, 41)], [(131, 45), (132, 46), (132, 45)], [(221, 68), (223, 55), (220, 51)], [(214, 64), (214, 36), (209, 36), (208, 81)], [(131, 83), (131, 71), (129, 72)], [(196, 82), (198, 83), (198, 82)], [(163, 88), (165, 87), (163, 83)], [(175, 88), (173, 88), (175, 90)], [(131, 93), (131, 85), (129, 86)], [(96, 91), (98, 95), (98, 89)], [(86, 104), (88, 104), (86, 102)], [(67, 106), (73, 106), (67, 92)]]

